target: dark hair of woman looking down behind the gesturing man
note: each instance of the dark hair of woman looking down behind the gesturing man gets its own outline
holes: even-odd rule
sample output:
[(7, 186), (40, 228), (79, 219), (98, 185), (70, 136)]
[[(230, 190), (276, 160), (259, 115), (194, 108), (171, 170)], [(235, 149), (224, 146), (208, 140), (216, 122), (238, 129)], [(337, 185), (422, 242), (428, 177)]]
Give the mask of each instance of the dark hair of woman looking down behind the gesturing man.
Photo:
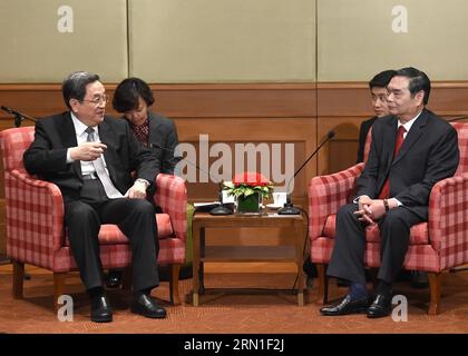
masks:
[(138, 98), (142, 97), (149, 107), (155, 102), (152, 89), (139, 78), (124, 79), (114, 93), (113, 107), (118, 112), (126, 112), (138, 108)]

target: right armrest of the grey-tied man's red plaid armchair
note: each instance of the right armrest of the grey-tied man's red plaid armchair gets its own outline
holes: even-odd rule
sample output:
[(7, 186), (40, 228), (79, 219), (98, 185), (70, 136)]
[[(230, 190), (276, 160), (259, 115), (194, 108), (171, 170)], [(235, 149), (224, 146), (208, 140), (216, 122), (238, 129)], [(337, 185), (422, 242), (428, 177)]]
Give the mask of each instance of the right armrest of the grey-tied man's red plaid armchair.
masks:
[(176, 238), (187, 238), (187, 188), (185, 179), (159, 174), (156, 177), (156, 205), (170, 217)]

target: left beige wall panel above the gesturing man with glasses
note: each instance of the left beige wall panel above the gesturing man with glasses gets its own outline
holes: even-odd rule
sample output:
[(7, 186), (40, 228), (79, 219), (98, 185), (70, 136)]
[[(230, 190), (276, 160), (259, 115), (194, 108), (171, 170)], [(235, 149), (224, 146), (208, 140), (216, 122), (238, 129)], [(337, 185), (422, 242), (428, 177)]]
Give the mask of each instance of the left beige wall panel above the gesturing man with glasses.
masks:
[[(72, 32), (58, 30), (61, 6), (72, 10)], [(126, 13), (125, 0), (1, 0), (0, 82), (60, 82), (75, 70), (121, 80), (128, 70)]]

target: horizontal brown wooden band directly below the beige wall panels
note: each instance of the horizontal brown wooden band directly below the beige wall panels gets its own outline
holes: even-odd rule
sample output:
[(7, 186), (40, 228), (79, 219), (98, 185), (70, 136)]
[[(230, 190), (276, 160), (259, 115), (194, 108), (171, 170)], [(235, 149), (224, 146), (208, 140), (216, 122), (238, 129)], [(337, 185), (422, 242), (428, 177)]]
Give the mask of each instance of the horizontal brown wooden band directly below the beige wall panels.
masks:
[[(106, 83), (110, 95), (116, 83)], [(367, 82), (150, 85), (158, 111), (178, 118), (372, 116)], [(468, 115), (468, 81), (432, 83), (429, 108)], [(30, 116), (65, 110), (59, 83), (0, 85), (0, 103)], [(117, 115), (109, 103), (108, 112)], [(0, 119), (7, 118), (0, 112)]]

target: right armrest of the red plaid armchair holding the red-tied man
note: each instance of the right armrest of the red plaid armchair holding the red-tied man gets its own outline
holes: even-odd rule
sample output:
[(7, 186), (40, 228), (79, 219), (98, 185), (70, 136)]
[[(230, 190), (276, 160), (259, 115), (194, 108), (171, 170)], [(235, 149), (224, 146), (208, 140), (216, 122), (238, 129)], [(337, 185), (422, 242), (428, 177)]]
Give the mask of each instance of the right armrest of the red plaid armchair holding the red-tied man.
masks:
[(438, 181), (429, 197), (428, 229), (441, 269), (467, 263), (467, 228), (468, 174)]

